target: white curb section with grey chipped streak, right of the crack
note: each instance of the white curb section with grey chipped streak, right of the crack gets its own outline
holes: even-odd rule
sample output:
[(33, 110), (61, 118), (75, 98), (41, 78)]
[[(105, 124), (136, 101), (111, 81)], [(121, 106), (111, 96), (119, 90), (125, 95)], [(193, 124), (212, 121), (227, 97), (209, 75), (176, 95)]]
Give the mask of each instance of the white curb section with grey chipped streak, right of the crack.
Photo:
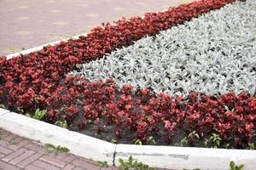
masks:
[(117, 144), (115, 165), (119, 166), (119, 158), (128, 160), (129, 156), (149, 167), (172, 169), (224, 170), (230, 169), (230, 161), (244, 164), (244, 170), (255, 170), (256, 167), (256, 150)]

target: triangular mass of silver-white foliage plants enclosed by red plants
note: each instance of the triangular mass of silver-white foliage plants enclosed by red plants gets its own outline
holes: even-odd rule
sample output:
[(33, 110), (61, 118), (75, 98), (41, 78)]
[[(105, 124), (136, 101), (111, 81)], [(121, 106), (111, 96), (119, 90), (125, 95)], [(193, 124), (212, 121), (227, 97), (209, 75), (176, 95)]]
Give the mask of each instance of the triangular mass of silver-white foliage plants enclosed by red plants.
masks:
[(256, 92), (256, 1), (233, 3), (113, 51), (70, 75), (155, 93)]

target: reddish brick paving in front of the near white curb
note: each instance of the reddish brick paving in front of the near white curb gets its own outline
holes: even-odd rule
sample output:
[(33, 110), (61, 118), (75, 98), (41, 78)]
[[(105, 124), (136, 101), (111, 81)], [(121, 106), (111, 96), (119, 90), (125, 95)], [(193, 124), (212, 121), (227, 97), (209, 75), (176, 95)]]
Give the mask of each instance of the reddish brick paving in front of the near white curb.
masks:
[(68, 153), (47, 155), (44, 145), (0, 129), (0, 170), (117, 170)]

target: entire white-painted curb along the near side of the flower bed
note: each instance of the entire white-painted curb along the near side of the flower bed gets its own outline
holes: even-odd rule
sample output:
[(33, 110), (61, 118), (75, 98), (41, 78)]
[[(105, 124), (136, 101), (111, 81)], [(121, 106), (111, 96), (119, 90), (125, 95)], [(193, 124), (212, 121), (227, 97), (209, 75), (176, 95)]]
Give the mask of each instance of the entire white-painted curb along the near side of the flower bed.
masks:
[(44, 144), (67, 147), (71, 153), (94, 161), (119, 166), (119, 158), (133, 156), (150, 167), (172, 169), (229, 169), (230, 161), (256, 167), (256, 150), (226, 150), (176, 146), (111, 144), (62, 127), (0, 109), (0, 127)]

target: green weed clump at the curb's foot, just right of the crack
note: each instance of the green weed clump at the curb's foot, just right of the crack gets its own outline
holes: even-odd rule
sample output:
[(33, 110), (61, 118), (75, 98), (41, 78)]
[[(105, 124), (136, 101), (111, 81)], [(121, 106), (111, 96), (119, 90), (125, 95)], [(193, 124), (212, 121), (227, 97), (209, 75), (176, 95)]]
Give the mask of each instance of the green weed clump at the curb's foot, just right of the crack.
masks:
[(124, 161), (123, 159), (119, 158), (119, 163), (121, 164), (119, 166), (120, 170), (153, 170), (154, 168), (149, 167), (146, 164), (143, 164), (143, 162), (135, 161), (132, 156), (129, 156), (128, 161)]

